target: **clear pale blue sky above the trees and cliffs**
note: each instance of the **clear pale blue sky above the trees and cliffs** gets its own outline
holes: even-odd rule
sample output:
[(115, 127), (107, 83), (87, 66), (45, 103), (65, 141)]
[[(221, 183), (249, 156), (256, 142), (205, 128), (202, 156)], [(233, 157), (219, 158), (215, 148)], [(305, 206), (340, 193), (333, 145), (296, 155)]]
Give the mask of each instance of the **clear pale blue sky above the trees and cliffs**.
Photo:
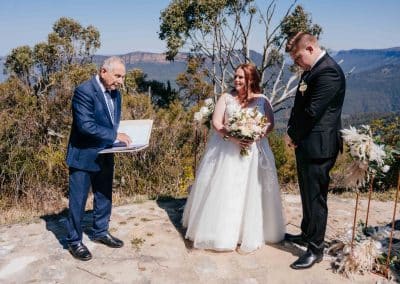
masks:
[[(0, 56), (20, 45), (45, 41), (54, 22), (71, 17), (101, 34), (98, 54), (131, 51), (162, 52), (158, 39), (160, 11), (169, 0), (0, 0)], [(262, 7), (268, 0), (257, 0)], [(276, 19), (292, 1), (278, 0)], [(332, 50), (400, 46), (400, 0), (298, 0), (324, 33), (322, 44)], [(260, 38), (257, 35), (260, 35)], [(262, 33), (251, 39), (260, 49)]]

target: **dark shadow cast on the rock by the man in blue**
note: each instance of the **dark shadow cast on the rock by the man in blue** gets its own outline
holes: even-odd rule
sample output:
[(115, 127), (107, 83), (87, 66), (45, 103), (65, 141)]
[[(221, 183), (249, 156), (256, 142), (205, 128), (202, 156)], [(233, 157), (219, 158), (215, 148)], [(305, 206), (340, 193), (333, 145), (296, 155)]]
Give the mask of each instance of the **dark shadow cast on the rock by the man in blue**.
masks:
[[(57, 214), (40, 216), (40, 218), (46, 222), (46, 229), (54, 234), (54, 236), (64, 249), (67, 249), (67, 242), (66, 242), (67, 217), (68, 217), (68, 209), (64, 209), (63, 211)], [(85, 215), (82, 220), (83, 231), (88, 236), (93, 235), (92, 223), (93, 223), (93, 210), (88, 210), (85, 212)]]

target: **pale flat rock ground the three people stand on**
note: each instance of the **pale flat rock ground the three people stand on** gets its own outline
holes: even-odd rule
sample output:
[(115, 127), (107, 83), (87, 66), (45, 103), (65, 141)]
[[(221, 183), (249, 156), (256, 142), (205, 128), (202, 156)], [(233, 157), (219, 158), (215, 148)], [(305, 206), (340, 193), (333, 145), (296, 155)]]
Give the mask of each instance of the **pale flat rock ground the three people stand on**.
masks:
[[(298, 233), (298, 195), (282, 196), (287, 231)], [(81, 262), (65, 247), (65, 213), (43, 216), (29, 224), (0, 227), (0, 283), (388, 283), (375, 274), (352, 279), (335, 274), (329, 257), (311, 269), (289, 265), (302, 253), (288, 243), (265, 245), (250, 253), (213, 252), (191, 248), (179, 220), (185, 200), (145, 201), (113, 208), (111, 232), (125, 242), (111, 249), (91, 242), (91, 212), (85, 215), (84, 243), (93, 259)], [(370, 224), (391, 221), (391, 202), (373, 201)], [(366, 200), (359, 205), (365, 220)], [(330, 196), (327, 239), (351, 229), (354, 200)]]

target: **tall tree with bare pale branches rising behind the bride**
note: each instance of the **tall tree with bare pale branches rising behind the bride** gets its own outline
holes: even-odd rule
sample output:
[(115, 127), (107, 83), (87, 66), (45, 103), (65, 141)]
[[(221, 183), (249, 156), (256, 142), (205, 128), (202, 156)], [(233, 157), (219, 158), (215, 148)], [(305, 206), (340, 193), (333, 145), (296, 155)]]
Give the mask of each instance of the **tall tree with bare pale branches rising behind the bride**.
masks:
[(249, 38), (254, 26), (261, 25), (265, 31), (264, 44), (257, 67), (264, 93), (276, 107), (294, 96), (291, 84), (297, 79), (297, 75), (292, 76), (286, 84), (282, 80), (283, 46), (287, 37), (297, 29), (321, 33), (319, 26), (312, 26), (309, 14), (301, 6), (293, 11), (295, 3), (289, 6), (283, 20), (273, 26), (276, 0), (267, 1), (265, 9), (257, 6), (255, 0), (173, 0), (161, 12), (159, 37), (167, 43), (169, 60), (183, 48), (205, 57), (214, 93), (219, 93), (226, 90), (235, 66), (252, 62)]

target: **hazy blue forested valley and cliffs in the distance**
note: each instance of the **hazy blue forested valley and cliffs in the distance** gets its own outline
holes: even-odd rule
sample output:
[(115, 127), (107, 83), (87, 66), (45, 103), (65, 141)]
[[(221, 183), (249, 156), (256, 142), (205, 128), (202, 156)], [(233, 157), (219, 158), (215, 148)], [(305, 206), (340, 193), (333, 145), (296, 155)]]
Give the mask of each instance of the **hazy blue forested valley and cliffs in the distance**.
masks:
[[(346, 115), (371, 112), (400, 111), (400, 47), (390, 49), (353, 49), (330, 52), (347, 73), (353, 70), (347, 79), (347, 93), (343, 113)], [(186, 54), (179, 54), (175, 61), (165, 60), (164, 54), (132, 52), (120, 55), (128, 69), (140, 68), (147, 79), (167, 82), (175, 85), (176, 76), (185, 71)], [(260, 54), (252, 52), (257, 62)], [(94, 61), (100, 64), (105, 56), (96, 55)], [(0, 70), (4, 57), (0, 57)], [(3, 72), (0, 82), (6, 79)]]

